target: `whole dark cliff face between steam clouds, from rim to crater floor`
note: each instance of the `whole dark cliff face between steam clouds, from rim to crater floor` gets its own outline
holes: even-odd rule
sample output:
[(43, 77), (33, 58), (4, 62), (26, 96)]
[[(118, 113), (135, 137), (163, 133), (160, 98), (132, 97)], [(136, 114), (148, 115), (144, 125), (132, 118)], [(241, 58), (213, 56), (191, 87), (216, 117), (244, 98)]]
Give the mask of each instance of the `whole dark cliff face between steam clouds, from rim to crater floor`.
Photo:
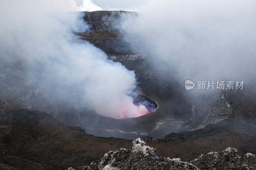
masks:
[(80, 39), (89, 41), (104, 51), (109, 59), (122, 63), (129, 70), (134, 70), (137, 77), (168, 79), (169, 72), (160, 67), (152, 67), (148, 56), (137, 54), (125, 41), (121, 24), (124, 15), (136, 16), (132, 11), (93, 11), (83, 12), (84, 21), (90, 26), (86, 32), (78, 33)]

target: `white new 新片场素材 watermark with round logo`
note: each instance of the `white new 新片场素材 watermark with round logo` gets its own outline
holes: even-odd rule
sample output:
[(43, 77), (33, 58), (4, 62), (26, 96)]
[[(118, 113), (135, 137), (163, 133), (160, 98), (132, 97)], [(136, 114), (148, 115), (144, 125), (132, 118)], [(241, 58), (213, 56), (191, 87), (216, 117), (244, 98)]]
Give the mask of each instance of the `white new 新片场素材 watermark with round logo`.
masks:
[[(244, 85), (244, 81), (197, 81), (197, 90), (208, 90), (208, 89), (220, 89), (220, 90), (224, 90), (224, 89), (243, 89), (243, 85)], [(194, 89), (195, 83), (191, 80), (186, 80), (185, 82), (185, 88), (186, 90), (191, 90)]]

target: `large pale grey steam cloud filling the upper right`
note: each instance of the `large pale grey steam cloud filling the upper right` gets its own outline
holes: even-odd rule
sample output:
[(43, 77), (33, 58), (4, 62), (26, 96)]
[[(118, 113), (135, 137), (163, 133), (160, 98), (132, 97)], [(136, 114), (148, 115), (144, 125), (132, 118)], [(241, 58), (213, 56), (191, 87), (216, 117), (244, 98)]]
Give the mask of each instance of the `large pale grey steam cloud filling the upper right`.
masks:
[(256, 2), (151, 0), (122, 28), (169, 78), (247, 80), (255, 76)]

